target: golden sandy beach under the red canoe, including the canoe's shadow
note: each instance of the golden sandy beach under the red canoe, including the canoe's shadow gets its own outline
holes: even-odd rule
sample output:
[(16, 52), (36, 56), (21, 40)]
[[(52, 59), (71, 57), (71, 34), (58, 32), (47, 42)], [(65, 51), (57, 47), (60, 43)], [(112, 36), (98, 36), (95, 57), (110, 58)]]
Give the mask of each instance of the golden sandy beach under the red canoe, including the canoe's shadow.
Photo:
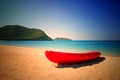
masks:
[(45, 50), (0, 46), (0, 80), (120, 80), (120, 57), (71, 65), (50, 62)]

